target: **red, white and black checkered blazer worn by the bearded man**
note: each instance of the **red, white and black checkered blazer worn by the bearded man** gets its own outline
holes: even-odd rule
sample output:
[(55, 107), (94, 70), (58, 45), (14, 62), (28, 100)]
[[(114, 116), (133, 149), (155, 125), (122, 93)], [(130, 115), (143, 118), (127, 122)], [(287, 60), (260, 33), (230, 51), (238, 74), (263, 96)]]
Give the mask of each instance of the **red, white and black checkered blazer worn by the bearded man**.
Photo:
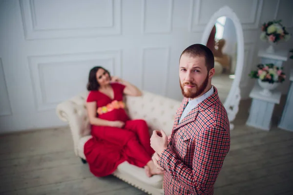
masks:
[[(179, 123), (188, 103), (177, 110), (168, 144), (158, 163), (165, 168), (165, 195), (212, 195), (230, 150), (230, 123), (218, 91), (199, 103)], [(179, 123), (179, 124), (178, 124)]]

